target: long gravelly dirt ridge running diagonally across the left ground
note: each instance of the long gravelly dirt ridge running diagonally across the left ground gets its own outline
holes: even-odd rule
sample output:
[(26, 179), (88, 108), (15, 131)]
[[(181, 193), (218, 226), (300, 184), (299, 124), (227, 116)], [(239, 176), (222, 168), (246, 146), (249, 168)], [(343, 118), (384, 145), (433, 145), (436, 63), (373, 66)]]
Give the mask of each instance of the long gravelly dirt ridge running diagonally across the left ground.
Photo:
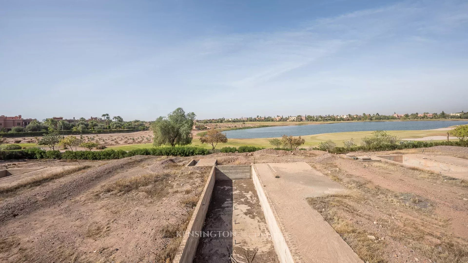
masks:
[[(113, 161), (101, 167), (91, 169), (82, 174), (63, 177), (51, 182), (47, 187), (30, 190), (21, 196), (5, 200), (0, 204), (0, 222), (20, 215), (28, 214), (40, 207), (53, 205), (60, 200), (71, 198), (114, 175), (118, 170), (124, 170), (153, 156), (135, 155)], [(44, 190), (47, 189), (47, 190)]]

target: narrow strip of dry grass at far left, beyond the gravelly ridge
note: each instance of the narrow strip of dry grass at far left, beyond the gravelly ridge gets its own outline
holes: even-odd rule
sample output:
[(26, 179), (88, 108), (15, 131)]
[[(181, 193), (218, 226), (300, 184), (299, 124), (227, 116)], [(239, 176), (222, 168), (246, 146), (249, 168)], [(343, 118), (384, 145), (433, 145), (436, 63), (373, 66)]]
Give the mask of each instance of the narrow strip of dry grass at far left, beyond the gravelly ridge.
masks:
[(12, 192), (15, 192), (17, 190), (35, 187), (35, 186), (41, 185), (43, 183), (46, 183), (46, 182), (49, 182), (49, 181), (52, 181), (52, 180), (55, 180), (55, 179), (62, 178), (64, 176), (66, 176), (66, 175), (71, 175), (73, 173), (79, 172), (81, 170), (84, 170), (84, 169), (90, 168), (90, 167), (91, 166), (89, 166), (89, 165), (81, 165), (81, 166), (69, 168), (69, 169), (62, 170), (62, 171), (55, 172), (55, 173), (34, 176), (34, 177), (31, 177), (31, 178), (29, 178), (29, 179), (27, 179), (27, 180), (25, 180), (25, 181), (23, 181), (21, 183), (17, 183), (17, 184), (12, 185), (12, 186), (0, 187), (0, 198), (1, 197), (8, 197), (8, 196), (11, 195)]

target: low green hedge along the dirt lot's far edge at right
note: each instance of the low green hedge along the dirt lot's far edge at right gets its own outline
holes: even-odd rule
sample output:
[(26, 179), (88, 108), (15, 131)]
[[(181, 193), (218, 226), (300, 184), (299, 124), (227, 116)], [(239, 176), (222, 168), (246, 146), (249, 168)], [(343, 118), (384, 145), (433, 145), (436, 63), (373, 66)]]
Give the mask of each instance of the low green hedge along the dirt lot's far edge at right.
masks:
[[(349, 153), (349, 152), (381, 152), (381, 151), (393, 151), (403, 150), (412, 148), (427, 148), (433, 146), (461, 146), (468, 147), (468, 141), (415, 141), (405, 142), (403, 144), (382, 144), (382, 145), (370, 145), (370, 146), (354, 146), (350, 148), (335, 147), (331, 149), (330, 153)], [(322, 150), (317, 148), (317, 150)]]

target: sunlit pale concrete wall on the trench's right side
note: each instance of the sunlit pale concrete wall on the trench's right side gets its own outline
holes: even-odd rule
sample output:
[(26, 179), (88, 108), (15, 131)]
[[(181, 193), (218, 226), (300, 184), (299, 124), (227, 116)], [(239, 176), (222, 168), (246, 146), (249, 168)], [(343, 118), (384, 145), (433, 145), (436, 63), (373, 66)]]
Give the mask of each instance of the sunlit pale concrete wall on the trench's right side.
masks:
[(262, 206), (263, 214), (265, 216), (266, 224), (270, 230), (271, 240), (275, 247), (276, 254), (280, 263), (294, 263), (291, 251), (289, 250), (288, 244), (286, 242), (285, 236), (281, 231), (281, 226), (278, 224), (278, 221), (275, 217), (274, 208), (272, 209), (269, 202), (269, 198), (263, 190), (263, 184), (260, 178), (256, 173), (256, 169), (252, 164), (252, 180), (254, 181), (254, 186), (257, 191), (258, 199), (260, 205)]

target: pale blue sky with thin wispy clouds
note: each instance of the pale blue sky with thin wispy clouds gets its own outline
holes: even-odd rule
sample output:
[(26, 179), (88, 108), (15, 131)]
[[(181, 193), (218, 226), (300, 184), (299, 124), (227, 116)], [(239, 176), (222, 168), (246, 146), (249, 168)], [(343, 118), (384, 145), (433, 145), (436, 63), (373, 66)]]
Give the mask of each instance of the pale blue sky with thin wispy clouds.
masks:
[(468, 110), (466, 0), (0, 0), (0, 115)]

